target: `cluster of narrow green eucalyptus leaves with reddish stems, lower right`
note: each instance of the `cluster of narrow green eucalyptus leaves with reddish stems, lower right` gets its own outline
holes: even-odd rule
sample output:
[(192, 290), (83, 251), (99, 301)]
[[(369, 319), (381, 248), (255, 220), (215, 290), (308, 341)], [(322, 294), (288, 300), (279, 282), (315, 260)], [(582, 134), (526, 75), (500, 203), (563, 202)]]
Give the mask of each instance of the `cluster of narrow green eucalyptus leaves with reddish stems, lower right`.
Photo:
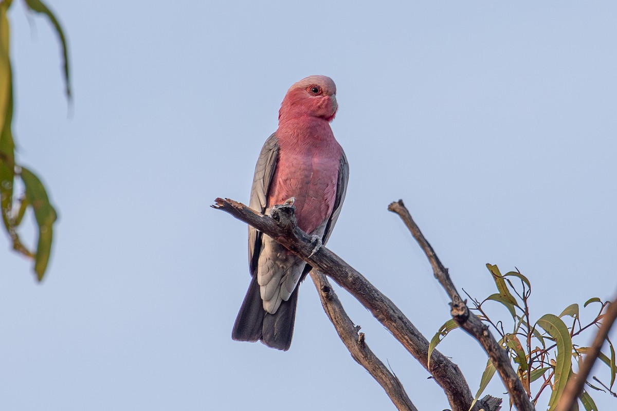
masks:
[[(483, 322), (486, 322), (499, 334), (499, 344), (502, 348), (507, 349), (513, 367), (533, 404), (536, 405), (541, 394), (549, 388), (549, 411), (553, 411), (557, 407), (568, 378), (574, 375), (574, 369), (576, 369), (574, 365), (578, 366), (582, 360), (582, 354), (589, 351), (589, 347), (579, 346), (573, 340), (588, 328), (599, 327), (608, 301), (603, 302), (600, 298), (595, 297), (588, 299), (583, 304), (583, 308), (592, 303), (600, 304), (595, 318), (586, 325), (581, 324), (579, 304), (569, 305), (559, 315), (544, 314), (532, 321), (529, 309), (531, 283), (527, 277), (518, 270), (501, 274), (499, 268), (495, 265), (486, 264), (486, 267), (497, 286), (497, 293), (489, 295), (482, 301), (470, 296), (474, 304), (473, 310), (478, 313)], [(489, 317), (484, 306), (495, 302), (502, 304), (507, 309), (510, 315), (509, 319), (495, 321), (494, 317)], [(568, 321), (568, 324), (566, 324), (565, 317), (571, 317), (571, 322)], [(505, 322), (511, 323), (510, 328), (505, 326)], [(437, 344), (457, 327), (457, 323), (451, 319), (439, 328), (429, 346), (429, 359)], [(599, 358), (610, 371), (610, 382), (603, 383), (594, 376), (594, 381), (597, 381), (598, 385), (603, 387), (598, 388), (586, 381), (587, 389), (582, 391), (579, 401), (587, 411), (597, 411), (595, 402), (589, 394), (589, 388), (596, 391), (608, 391), (608, 393), (617, 397), (617, 394), (613, 392), (617, 375), (615, 348), (610, 340), (608, 340), (608, 347), (610, 356), (601, 352)], [(482, 374), (476, 400), (481, 396), (494, 374), (495, 366), (489, 359)]]

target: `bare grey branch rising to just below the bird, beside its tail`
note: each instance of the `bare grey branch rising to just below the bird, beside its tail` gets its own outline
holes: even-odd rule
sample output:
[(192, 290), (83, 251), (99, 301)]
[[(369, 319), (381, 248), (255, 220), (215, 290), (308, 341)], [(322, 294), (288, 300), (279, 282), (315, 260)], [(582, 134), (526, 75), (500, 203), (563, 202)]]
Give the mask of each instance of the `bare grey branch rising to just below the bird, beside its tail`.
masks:
[(405, 393), (405, 389), (399, 379), (392, 375), (386, 365), (368, 348), (364, 339), (364, 333), (358, 333), (360, 327), (355, 327), (352, 320), (347, 316), (341, 301), (339, 301), (339, 298), (330, 286), (328, 278), (317, 270), (311, 271), (310, 275), (319, 293), (324, 311), (354, 360), (375, 378), (397, 409), (417, 411), (418, 409), (416, 409), (407, 393)]

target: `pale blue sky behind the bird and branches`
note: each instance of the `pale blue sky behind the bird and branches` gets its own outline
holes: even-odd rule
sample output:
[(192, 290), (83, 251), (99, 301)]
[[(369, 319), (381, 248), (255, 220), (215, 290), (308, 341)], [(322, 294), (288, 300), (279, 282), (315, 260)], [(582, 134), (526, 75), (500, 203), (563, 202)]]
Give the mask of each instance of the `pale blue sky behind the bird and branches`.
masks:
[[(487, 262), (531, 280), (533, 319), (617, 291), (615, 2), (54, 0), (72, 120), (56, 37), (20, 3), (19, 160), (60, 219), (41, 285), (0, 245), (0, 409), (393, 409), (310, 281), (288, 352), (231, 341), (246, 227), (209, 205), (247, 201), (284, 93), (307, 75), (337, 84), (332, 126), (350, 163), (328, 246), (428, 338), (449, 319), (447, 296), (386, 210), (399, 198), (476, 298), (494, 292)], [(447, 408), (416, 360), (339, 296), (418, 409)], [(478, 344), (457, 330), (439, 349), (475, 392)], [(503, 391), (495, 378), (486, 393)]]

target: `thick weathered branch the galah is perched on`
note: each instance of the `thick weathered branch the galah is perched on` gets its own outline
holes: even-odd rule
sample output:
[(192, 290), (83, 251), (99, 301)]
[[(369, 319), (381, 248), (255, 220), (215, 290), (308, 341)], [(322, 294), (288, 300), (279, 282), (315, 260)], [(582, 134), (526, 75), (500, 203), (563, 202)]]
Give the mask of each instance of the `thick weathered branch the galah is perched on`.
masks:
[[(327, 274), (338, 285), (349, 291), (431, 373), (437, 384), (444, 389), (452, 411), (468, 411), (473, 396), (458, 366), (441, 352), (434, 350), (431, 354), (431, 368), (429, 369), (429, 344), (426, 338), (405, 317), (405, 314), (381, 291), (368, 282), (362, 274), (325, 246), (321, 246), (315, 251), (315, 244), (311, 237), (297, 227), (293, 206), (275, 206), (270, 213), (271, 218), (269, 218), (237, 201), (217, 198), (215, 202), (213, 208), (226, 211), (235, 218), (269, 235), (276, 242), (281, 243), (289, 251), (308, 262), (312, 267)], [(476, 402), (472, 410), (481, 409), (482, 404), (479, 403)]]

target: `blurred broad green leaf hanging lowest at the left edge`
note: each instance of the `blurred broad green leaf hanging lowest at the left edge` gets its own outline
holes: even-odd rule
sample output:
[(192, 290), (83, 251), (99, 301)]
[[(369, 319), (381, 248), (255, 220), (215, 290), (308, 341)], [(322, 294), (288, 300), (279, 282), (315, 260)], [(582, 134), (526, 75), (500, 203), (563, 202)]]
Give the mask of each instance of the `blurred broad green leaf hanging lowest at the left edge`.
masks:
[(22, 167), (21, 173), (23, 184), (26, 187), (26, 199), (35, 212), (36, 223), (39, 229), (38, 245), (35, 254), (35, 272), (39, 281), (49, 262), (51, 243), (53, 238), (53, 224), (57, 214), (54, 207), (49, 203), (47, 191), (41, 180), (29, 169)]

